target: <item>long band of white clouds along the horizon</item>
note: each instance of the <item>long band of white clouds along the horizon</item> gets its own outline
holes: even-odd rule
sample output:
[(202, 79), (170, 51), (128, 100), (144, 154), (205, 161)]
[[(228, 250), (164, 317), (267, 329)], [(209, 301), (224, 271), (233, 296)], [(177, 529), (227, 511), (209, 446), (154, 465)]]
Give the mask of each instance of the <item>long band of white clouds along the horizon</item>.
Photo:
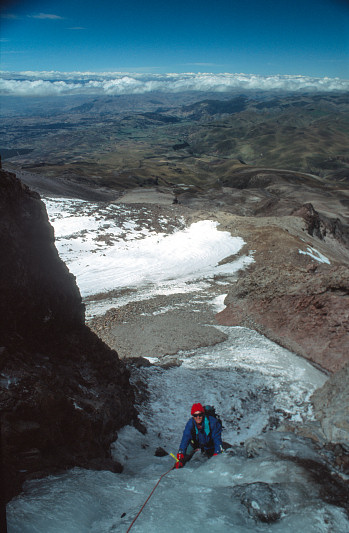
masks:
[(2, 72), (6, 96), (121, 95), (155, 91), (229, 90), (348, 91), (349, 80), (254, 74), (125, 74), (118, 72)]

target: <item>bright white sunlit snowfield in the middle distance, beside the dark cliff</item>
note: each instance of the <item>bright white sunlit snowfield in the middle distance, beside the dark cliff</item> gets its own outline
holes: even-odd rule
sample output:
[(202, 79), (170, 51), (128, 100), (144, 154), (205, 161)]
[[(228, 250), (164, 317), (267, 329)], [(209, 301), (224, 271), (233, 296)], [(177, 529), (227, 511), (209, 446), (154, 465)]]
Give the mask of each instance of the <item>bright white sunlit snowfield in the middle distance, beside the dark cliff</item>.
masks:
[(193, 290), (194, 282), (231, 276), (253, 261), (250, 255), (219, 265), (237, 255), (244, 241), (211, 220), (167, 234), (140, 226), (119, 204), (98, 209), (80, 200), (46, 200), (46, 206), (59, 254), (82, 296), (142, 287), (148, 298), (152, 292), (184, 292), (188, 284)]

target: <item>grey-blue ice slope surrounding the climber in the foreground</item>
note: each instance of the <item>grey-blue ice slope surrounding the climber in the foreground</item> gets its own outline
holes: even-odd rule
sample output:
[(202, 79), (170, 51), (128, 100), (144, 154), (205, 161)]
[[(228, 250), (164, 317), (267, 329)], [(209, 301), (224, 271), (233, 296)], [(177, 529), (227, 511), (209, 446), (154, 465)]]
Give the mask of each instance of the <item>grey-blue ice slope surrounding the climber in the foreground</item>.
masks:
[[(227, 341), (182, 353), (180, 367), (134, 375), (149, 388), (149, 400), (139, 406), (148, 433), (133, 427), (120, 432), (113, 453), (125, 465), (122, 474), (74, 469), (27, 484), (8, 506), (9, 532), (126, 532), (173, 465), (170, 456), (155, 457), (155, 450), (177, 452), (193, 401), (217, 407), (224, 440), (236, 445), (210, 460), (198, 453), (184, 469), (170, 471), (131, 531), (347, 531), (344, 511), (325, 504), (308, 472), (286, 457), (316, 459), (316, 452), (289, 434), (263, 433), (280, 409), (296, 419), (309, 415), (309, 394), (325, 377), (250, 330), (225, 329), (231, 330)], [(276, 453), (281, 450), (284, 457)]]

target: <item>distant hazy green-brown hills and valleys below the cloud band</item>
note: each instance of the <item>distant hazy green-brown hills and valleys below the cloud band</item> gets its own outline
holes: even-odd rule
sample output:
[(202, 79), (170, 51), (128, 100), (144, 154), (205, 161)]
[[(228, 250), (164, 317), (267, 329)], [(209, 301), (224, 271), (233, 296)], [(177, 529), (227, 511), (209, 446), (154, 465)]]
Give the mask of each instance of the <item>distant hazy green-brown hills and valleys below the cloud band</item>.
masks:
[(205, 189), (221, 178), (226, 160), (232, 168), (240, 161), (349, 179), (346, 93), (23, 100), (5, 98), (2, 111), (0, 153), (14, 170), (117, 189), (183, 183)]

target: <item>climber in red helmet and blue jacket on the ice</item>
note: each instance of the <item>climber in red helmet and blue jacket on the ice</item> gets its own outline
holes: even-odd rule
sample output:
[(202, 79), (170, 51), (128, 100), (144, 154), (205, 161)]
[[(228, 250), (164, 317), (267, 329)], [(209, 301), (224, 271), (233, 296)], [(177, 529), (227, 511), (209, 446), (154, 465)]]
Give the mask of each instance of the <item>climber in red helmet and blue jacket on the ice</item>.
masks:
[[(212, 457), (222, 452), (222, 423), (215, 416), (214, 408), (206, 406), (206, 413), (201, 403), (194, 403), (191, 408), (192, 418), (184, 428), (183, 437), (177, 454), (176, 468), (182, 468), (197, 449)], [(211, 416), (211, 409), (213, 416)]]

